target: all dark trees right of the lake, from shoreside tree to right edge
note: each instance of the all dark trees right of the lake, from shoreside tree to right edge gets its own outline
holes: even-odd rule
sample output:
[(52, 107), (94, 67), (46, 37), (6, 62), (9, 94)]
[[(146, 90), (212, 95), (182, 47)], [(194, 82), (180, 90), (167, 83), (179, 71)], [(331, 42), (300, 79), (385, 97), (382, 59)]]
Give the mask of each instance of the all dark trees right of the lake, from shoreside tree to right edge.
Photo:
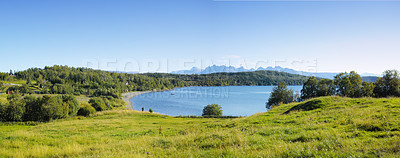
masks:
[(296, 96), (293, 90), (288, 89), (286, 83), (282, 82), (273, 89), (266, 108), (270, 109), (272, 106), (282, 103), (333, 95), (351, 98), (400, 97), (399, 72), (386, 70), (383, 72), (383, 77), (379, 77), (376, 82), (362, 81), (361, 76), (354, 71), (339, 73), (333, 80), (309, 77), (303, 84), (300, 96)]

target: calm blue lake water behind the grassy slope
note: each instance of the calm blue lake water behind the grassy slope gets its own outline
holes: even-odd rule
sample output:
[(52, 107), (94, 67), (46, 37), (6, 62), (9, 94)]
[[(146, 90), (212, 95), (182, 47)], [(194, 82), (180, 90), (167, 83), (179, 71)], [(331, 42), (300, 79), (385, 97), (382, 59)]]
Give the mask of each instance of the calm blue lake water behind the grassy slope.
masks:
[[(223, 115), (250, 116), (265, 112), (267, 102), (274, 86), (226, 86), (226, 87), (184, 87), (171, 91), (145, 93), (131, 99), (133, 109), (170, 116), (201, 116), (204, 106), (219, 104)], [(299, 93), (302, 86), (288, 86)]]

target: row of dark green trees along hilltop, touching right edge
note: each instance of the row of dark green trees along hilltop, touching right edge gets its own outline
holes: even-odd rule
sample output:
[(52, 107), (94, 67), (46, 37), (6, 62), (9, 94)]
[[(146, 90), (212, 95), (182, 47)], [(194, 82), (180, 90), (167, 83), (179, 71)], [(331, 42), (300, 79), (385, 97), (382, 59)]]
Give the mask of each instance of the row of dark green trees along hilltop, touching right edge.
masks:
[(400, 77), (397, 70), (386, 70), (374, 82), (362, 81), (354, 71), (340, 73), (334, 80), (310, 77), (301, 90), (301, 99), (338, 95), (343, 97), (399, 97)]

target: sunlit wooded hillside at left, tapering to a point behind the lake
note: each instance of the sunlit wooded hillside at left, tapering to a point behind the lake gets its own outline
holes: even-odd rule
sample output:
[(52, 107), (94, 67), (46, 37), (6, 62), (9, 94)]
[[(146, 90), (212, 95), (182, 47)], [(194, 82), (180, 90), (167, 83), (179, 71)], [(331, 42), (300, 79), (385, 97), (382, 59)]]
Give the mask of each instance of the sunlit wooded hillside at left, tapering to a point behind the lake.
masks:
[(26, 80), (26, 84), (9, 90), (21, 93), (34, 93), (30, 90), (36, 81), (36, 93), (73, 94), (88, 96), (112, 96), (119, 98), (127, 91), (170, 89), (174, 85), (167, 79), (148, 77), (139, 74), (116, 73), (88, 68), (73, 68), (55, 65), (53, 67), (30, 68), (14, 73), (16, 79)]

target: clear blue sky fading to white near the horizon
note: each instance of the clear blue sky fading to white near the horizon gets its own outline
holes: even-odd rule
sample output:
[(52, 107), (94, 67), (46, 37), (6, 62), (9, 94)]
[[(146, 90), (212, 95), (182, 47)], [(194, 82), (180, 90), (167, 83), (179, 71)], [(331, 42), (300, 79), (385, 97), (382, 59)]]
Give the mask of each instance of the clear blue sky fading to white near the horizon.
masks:
[(0, 71), (400, 70), (400, 1), (0, 1)]

